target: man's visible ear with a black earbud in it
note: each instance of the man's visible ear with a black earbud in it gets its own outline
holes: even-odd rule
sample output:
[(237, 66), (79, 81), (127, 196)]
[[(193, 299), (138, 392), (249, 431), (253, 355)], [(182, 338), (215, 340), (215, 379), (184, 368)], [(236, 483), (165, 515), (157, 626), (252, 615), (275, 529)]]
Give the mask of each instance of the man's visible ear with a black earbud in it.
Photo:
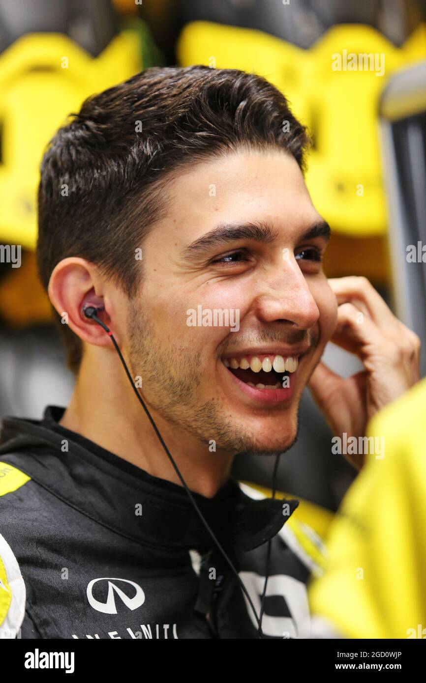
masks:
[(88, 305), (102, 307), (98, 317), (114, 331), (120, 344), (118, 331), (112, 324), (113, 304), (109, 296), (104, 295), (103, 281), (94, 264), (73, 256), (59, 261), (49, 280), (48, 293), (64, 324), (68, 324), (84, 342), (94, 346), (110, 346), (111, 339), (100, 325), (86, 318), (83, 309)]

